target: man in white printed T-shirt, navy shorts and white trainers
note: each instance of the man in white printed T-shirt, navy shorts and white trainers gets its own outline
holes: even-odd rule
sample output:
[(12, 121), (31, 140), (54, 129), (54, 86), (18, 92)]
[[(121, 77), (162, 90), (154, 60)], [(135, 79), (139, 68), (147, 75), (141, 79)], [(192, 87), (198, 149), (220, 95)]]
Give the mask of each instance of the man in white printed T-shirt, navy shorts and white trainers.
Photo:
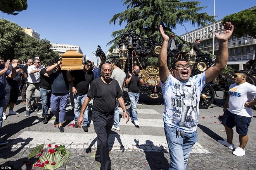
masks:
[[(228, 90), (228, 96), (223, 106), (224, 115), (222, 124), (225, 127), (227, 140), (218, 140), (222, 145), (234, 150), (236, 156), (245, 155), (245, 146), (248, 142), (248, 127), (253, 117), (252, 108), (256, 104), (256, 87), (247, 83), (247, 73), (237, 71), (232, 75), (234, 84), (231, 84)], [(239, 147), (235, 148), (233, 144), (232, 128), (239, 134)]]

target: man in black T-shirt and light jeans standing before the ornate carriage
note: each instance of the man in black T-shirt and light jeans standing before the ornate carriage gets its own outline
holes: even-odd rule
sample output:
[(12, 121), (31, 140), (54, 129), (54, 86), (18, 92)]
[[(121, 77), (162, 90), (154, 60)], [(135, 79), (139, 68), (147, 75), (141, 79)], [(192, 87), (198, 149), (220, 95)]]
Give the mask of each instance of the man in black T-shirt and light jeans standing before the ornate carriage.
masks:
[(139, 126), (140, 123), (138, 122), (137, 118), (137, 110), (136, 105), (138, 103), (138, 99), (140, 97), (140, 84), (144, 84), (141, 75), (139, 74), (140, 67), (134, 66), (133, 73), (128, 72), (128, 77), (126, 78), (125, 83), (128, 84), (128, 95), (131, 101), (130, 107), (130, 121), (134, 123), (135, 126)]

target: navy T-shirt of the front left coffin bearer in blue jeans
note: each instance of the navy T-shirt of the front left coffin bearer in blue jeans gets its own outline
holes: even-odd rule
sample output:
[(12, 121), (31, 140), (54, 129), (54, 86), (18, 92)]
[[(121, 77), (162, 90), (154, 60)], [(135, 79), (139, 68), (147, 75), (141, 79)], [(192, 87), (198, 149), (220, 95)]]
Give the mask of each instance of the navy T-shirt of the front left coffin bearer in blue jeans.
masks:
[(52, 93), (69, 93), (69, 83), (67, 81), (67, 71), (52, 70), (49, 75), (52, 85)]

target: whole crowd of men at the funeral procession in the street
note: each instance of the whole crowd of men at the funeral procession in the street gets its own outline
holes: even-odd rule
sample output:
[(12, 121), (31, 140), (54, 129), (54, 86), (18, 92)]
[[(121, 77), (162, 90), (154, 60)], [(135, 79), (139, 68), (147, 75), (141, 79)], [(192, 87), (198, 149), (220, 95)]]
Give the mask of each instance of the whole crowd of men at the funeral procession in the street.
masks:
[[(215, 33), (219, 50), (212, 67), (204, 73), (191, 77), (191, 68), (183, 58), (172, 63), (171, 74), (167, 66), (167, 49), (169, 36), (164, 34), (163, 27), (159, 28), (163, 45), (159, 54), (159, 77), (164, 98), (165, 111), (163, 113), (164, 131), (170, 152), (169, 169), (185, 170), (190, 151), (197, 142), (197, 124), (199, 118), (200, 94), (205, 85), (209, 84), (225, 68), (228, 61), (228, 39), (234, 31), (230, 22), (224, 24), (222, 34)], [(196, 41), (198, 45), (200, 40)], [(196, 49), (196, 48), (195, 48)], [(19, 61), (7, 60), (4, 64), (0, 58), (0, 131), (2, 120), (9, 114), (19, 114), (13, 110), (17, 102), (19, 85), (22, 80), (22, 103), (26, 104), (26, 114), (34, 109), (38, 111), (38, 101), (42, 99), (43, 123), (49, 121), (50, 114), (56, 117), (54, 124), (59, 124), (60, 132), (64, 132), (63, 122), (66, 115), (66, 106), (69, 99), (69, 85), (74, 97), (74, 126), (88, 132), (88, 104), (93, 99), (92, 120), (97, 134), (97, 151), (95, 160), (100, 162), (101, 170), (111, 169), (109, 157), (108, 137), (111, 129), (120, 130), (119, 111), (123, 109), (123, 118), (126, 123), (130, 120), (139, 126), (136, 105), (139, 98), (139, 84), (144, 84), (140, 75), (140, 67), (133, 66), (132, 72), (125, 74), (120, 69), (120, 61), (112, 59), (104, 62), (100, 70), (92, 61), (85, 61), (83, 70), (68, 68), (61, 70), (62, 62), (47, 63), (45, 68), (40, 67), (40, 59), (28, 60), (23, 70), (18, 68)], [(223, 111), (223, 122), (227, 133), (227, 140), (220, 140), (221, 144), (234, 150), (236, 156), (245, 155), (245, 146), (248, 142), (248, 127), (251, 122), (252, 109), (256, 101), (256, 87), (246, 82), (248, 75), (245, 72), (235, 72), (232, 75), (234, 84), (230, 85), (229, 95)], [(128, 95), (131, 105), (126, 109), (123, 96), (125, 84), (128, 85)], [(26, 93), (24, 93), (26, 92)], [(33, 107), (31, 100), (35, 94)], [(26, 100), (24, 100), (26, 99)], [(9, 105), (9, 112), (6, 108)], [(175, 111), (180, 110), (180, 114)], [(187, 118), (189, 115), (190, 119)], [(239, 147), (232, 143), (233, 130), (239, 134)], [(0, 140), (0, 145), (8, 141)]]

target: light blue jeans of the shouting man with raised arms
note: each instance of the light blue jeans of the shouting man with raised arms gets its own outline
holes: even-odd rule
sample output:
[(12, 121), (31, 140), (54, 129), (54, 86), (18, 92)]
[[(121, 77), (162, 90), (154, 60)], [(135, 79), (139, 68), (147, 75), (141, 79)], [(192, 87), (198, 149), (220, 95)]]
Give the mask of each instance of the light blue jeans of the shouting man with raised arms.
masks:
[(164, 132), (169, 147), (171, 163), (169, 170), (185, 170), (189, 159), (189, 154), (197, 142), (197, 131), (185, 133), (184, 136), (176, 133), (176, 128), (164, 124)]

